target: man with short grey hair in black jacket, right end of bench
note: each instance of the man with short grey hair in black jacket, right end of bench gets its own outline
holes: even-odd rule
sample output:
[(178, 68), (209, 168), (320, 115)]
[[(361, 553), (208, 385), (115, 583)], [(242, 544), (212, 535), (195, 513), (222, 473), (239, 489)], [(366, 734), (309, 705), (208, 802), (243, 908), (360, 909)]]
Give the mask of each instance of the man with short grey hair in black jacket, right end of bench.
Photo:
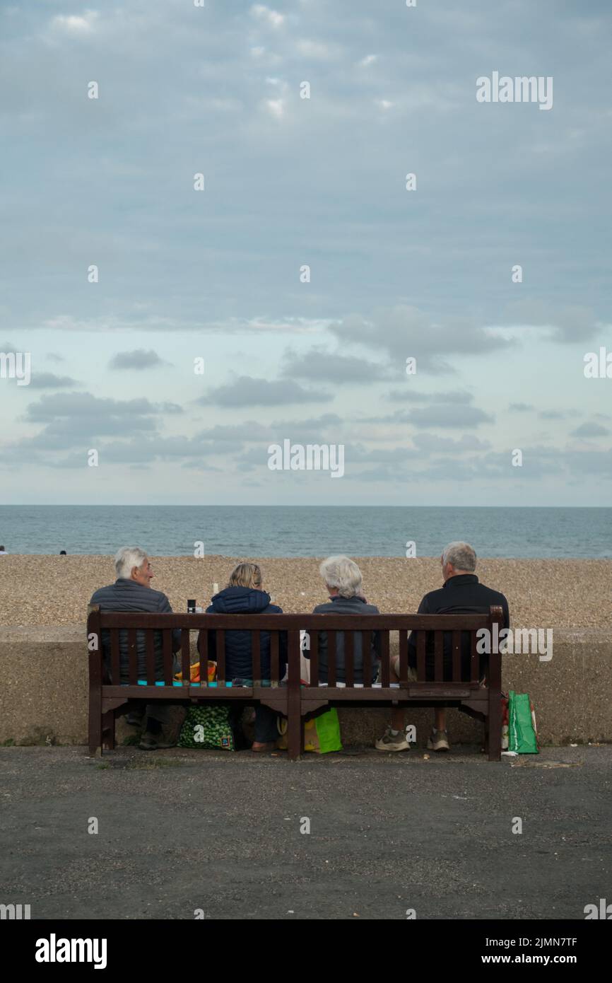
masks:
[[(442, 579), (444, 584), (437, 591), (425, 594), (418, 606), (418, 614), (487, 614), (489, 607), (497, 605), (504, 612), (504, 628), (510, 627), (508, 602), (499, 591), (480, 584), (473, 572), (476, 568), (476, 554), (469, 543), (450, 543), (442, 556)], [(444, 678), (453, 678), (453, 657), (450, 632), (444, 637)], [(467, 639), (466, 639), (467, 641)], [(462, 646), (461, 671), (463, 678), (470, 676), (470, 647)], [(391, 681), (400, 678), (400, 660), (396, 656), (391, 660)], [(408, 638), (409, 676), (417, 678), (417, 644), (413, 635)], [(412, 672), (411, 672), (412, 670)], [(426, 665), (427, 679), (433, 679), (433, 652), (427, 649)], [(391, 711), (391, 726), (387, 727), (384, 735), (375, 742), (377, 751), (405, 751), (410, 747), (404, 729), (405, 711), (398, 708)], [(427, 738), (429, 751), (449, 751), (448, 733), (446, 730), (446, 708), (434, 710), (434, 724)]]

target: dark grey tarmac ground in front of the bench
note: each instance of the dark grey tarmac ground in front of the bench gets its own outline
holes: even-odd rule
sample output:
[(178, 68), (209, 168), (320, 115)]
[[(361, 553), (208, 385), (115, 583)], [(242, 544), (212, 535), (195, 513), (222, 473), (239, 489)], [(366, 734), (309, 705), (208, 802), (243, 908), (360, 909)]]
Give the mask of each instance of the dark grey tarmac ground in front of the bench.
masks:
[(499, 763), (3, 747), (0, 797), (0, 902), (32, 919), (584, 919), (612, 901), (610, 745)]

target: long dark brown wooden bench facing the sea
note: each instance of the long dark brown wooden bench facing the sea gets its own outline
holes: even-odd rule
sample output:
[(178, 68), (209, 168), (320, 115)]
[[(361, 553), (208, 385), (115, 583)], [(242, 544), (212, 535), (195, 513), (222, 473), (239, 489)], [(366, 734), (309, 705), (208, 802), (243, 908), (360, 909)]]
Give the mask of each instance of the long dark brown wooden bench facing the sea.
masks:
[[(501, 756), (501, 656), (486, 657), (486, 681), (480, 682), (480, 657), (476, 650), (476, 632), (486, 628), (495, 637), (493, 625), (503, 627), (501, 607), (491, 607), (488, 614), (120, 614), (102, 613), (90, 607), (87, 616), (87, 650), (89, 658), (89, 752), (101, 754), (103, 748), (115, 746), (116, 711), (127, 710), (130, 700), (172, 700), (188, 704), (206, 700), (260, 703), (288, 718), (289, 757), (298, 759), (302, 752), (304, 721), (307, 714), (326, 706), (336, 707), (457, 707), (484, 723), (485, 745), (489, 761)], [(181, 632), (180, 664), (184, 682), (173, 685), (172, 633)], [(200, 679), (207, 679), (207, 634), (216, 632), (216, 685), (190, 681), (191, 632), (201, 632), (198, 659)], [(252, 685), (226, 686), (225, 632), (251, 631)], [(301, 636), (309, 637), (311, 684), (301, 682)], [(102, 631), (110, 634), (110, 665), (106, 670), (102, 656)], [(120, 631), (127, 631), (129, 683), (120, 679)], [(270, 680), (261, 681), (260, 632), (270, 634)], [(327, 633), (328, 683), (318, 684), (318, 632)], [(344, 686), (337, 685), (335, 665), (336, 633), (344, 634)], [(363, 678), (370, 678), (371, 632), (380, 640), (380, 683), (356, 686), (354, 651), (355, 634), (362, 633)], [(144, 633), (146, 653), (145, 685), (139, 685), (137, 666), (137, 632)], [(161, 632), (163, 651), (163, 685), (155, 685), (155, 633)], [(288, 671), (280, 678), (279, 633), (287, 634)], [(398, 633), (400, 681), (390, 680), (390, 634)], [(417, 645), (417, 680), (409, 678), (408, 634), (415, 633)], [(462, 633), (469, 632), (470, 676), (462, 678)], [(433, 636), (431, 640), (431, 635)], [(452, 680), (444, 680), (444, 635), (452, 642)], [(429, 644), (427, 636), (429, 635)], [(434, 679), (426, 679), (427, 652), (432, 652)], [(197, 659), (194, 659), (196, 662)], [(227, 680), (230, 682), (231, 680)]]

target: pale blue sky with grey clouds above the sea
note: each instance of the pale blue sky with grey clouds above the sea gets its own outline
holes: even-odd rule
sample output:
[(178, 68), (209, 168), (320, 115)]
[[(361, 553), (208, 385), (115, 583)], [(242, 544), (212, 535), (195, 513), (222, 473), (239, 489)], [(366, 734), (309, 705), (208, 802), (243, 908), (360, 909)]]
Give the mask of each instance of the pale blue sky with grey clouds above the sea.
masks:
[[(608, 0), (3, 0), (0, 500), (612, 504), (611, 34)], [(552, 107), (477, 101), (494, 72)], [(344, 477), (269, 470), (285, 439)]]

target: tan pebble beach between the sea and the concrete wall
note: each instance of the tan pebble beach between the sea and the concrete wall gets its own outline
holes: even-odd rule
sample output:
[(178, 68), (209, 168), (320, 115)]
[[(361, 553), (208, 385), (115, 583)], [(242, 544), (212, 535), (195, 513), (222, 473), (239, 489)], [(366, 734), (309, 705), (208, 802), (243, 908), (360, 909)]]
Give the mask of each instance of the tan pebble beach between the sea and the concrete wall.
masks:
[[(153, 556), (151, 586), (168, 595), (174, 610), (185, 611), (192, 598), (206, 607), (213, 585), (225, 587), (235, 563), (254, 559), (276, 604), (287, 613), (309, 612), (327, 600), (321, 558)], [(367, 601), (383, 613), (414, 612), (422, 595), (442, 584), (439, 557), (353, 558)], [(506, 595), (516, 627), (612, 626), (612, 560), (480, 559), (476, 574)], [(111, 556), (7, 554), (0, 558), (0, 624), (82, 623), (93, 592), (114, 580)]]

